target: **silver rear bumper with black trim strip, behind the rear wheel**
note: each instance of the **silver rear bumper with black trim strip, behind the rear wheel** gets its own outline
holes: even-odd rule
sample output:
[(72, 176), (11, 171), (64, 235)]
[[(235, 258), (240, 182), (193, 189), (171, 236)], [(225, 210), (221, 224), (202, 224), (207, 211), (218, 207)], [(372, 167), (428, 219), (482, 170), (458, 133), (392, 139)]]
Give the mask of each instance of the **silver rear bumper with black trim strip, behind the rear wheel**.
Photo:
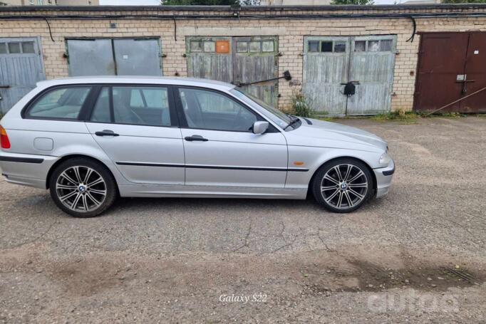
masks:
[(6, 182), (46, 189), (49, 169), (59, 157), (0, 151), (1, 175)]

